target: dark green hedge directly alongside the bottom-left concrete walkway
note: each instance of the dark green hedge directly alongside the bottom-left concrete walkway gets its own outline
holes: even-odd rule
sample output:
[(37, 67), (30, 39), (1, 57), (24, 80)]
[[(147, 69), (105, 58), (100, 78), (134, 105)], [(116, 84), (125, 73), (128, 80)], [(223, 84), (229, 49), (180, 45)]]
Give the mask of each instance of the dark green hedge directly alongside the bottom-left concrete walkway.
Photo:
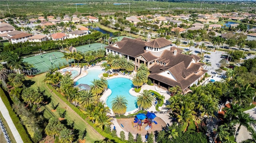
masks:
[(14, 123), (16, 129), (18, 130), (20, 137), (24, 143), (32, 143), (26, 130), (24, 129), (23, 125), (20, 123), (20, 119), (16, 116), (15, 112), (12, 110), (12, 106), (7, 98), (5, 92), (0, 88), (0, 97), (2, 98), (4, 105), (6, 106), (10, 117), (12, 118), (12, 122)]

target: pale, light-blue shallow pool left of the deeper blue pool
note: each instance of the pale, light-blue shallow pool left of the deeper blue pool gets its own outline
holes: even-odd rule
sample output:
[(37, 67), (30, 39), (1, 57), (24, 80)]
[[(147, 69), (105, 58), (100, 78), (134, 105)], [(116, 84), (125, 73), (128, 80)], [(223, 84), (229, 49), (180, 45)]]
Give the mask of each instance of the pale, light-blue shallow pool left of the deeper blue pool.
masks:
[(92, 85), (92, 82), (94, 79), (99, 79), (98, 75), (103, 73), (102, 70), (100, 69), (92, 69), (92, 70), (88, 70), (88, 74), (82, 78), (79, 78), (76, 81), (76, 85), (78, 84), (88, 84), (88, 85)]

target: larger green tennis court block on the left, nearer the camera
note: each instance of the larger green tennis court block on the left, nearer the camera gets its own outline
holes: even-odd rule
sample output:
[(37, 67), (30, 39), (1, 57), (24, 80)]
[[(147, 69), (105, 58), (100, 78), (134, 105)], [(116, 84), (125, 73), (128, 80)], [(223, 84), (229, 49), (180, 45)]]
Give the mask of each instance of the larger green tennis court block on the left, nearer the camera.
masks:
[[(28, 62), (29, 64), (34, 65), (34, 68), (39, 70), (40, 72), (47, 72), (50, 67), (61, 67), (63, 65), (67, 65), (66, 59), (63, 59), (62, 52), (51, 52), (40, 54), (32, 57), (24, 58), (23, 61)], [(68, 60), (70, 64), (70, 60)]]

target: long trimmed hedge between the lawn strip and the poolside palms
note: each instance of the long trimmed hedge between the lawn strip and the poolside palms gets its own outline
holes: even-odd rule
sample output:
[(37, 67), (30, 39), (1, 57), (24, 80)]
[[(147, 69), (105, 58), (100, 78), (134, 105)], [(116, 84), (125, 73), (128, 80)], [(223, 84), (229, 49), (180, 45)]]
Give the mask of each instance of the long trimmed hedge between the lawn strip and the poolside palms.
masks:
[(76, 112), (76, 114), (78, 114), (81, 118), (84, 119), (84, 121), (86, 121), (89, 125), (91, 125), (98, 133), (100, 133), (103, 137), (107, 137), (108, 139), (114, 139), (117, 143), (126, 143), (124, 141), (121, 141), (119, 138), (117, 137), (112, 137), (112, 135), (105, 133), (104, 131), (102, 131), (100, 128), (95, 127), (94, 123), (92, 123), (91, 121), (87, 121), (86, 120), (86, 116), (78, 109), (76, 108), (76, 106), (74, 106), (73, 104), (71, 104), (70, 102), (68, 102), (68, 100), (62, 96), (59, 92), (57, 92), (52, 86), (50, 86), (50, 84), (47, 84), (47, 86), (50, 88), (50, 90), (52, 90), (52, 92), (54, 92), (62, 101), (64, 101), (72, 110), (74, 110), (74, 112)]

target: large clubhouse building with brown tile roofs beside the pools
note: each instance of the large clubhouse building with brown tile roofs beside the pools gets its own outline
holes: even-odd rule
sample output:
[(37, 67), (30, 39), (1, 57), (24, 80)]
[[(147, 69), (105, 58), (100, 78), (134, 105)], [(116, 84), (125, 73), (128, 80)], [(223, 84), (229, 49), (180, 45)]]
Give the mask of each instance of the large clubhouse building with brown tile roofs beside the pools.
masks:
[(180, 86), (185, 93), (190, 86), (197, 84), (207, 70), (200, 57), (184, 55), (182, 50), (172, 46), (172, 42), (165, 38), (147, 41), (141, 38), (123, 38), (113, 45), (106, 46), (106, 53), (113, 53), (126, 57), (135, 62), (135, 71), (144, 63), (150, 70), (149, 79), (153, 84), (162, 88)]

